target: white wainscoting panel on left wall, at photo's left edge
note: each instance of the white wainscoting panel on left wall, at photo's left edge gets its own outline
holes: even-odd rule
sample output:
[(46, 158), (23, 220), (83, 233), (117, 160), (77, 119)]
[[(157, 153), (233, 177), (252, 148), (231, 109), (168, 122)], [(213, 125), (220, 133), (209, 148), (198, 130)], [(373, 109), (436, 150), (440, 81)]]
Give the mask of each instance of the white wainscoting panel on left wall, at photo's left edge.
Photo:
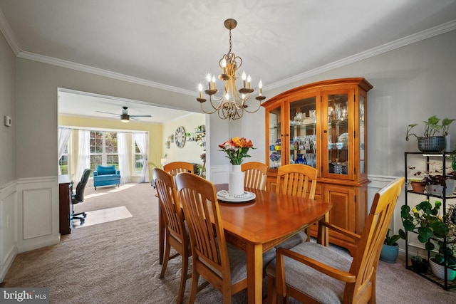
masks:
[(17, 255), (16, 182), (0, 186), (0, 282)]

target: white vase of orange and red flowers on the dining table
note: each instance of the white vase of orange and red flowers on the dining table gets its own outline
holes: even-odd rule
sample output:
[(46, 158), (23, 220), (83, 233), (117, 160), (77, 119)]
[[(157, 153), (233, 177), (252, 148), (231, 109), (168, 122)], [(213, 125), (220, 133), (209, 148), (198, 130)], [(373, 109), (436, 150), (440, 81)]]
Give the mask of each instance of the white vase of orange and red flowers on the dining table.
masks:
[(244, 172), (241, 171), (241, 164), (244, 158), (250, 157), (247, 152), (254, 149), (252, 140), (246, 140), (244, 137), (230, 138), (222, 145), (219, 145), (220, 151), (225, 152), (226, 157), (232, 164), (232, 171), (229, 172), (228, 192), (232, 196), (242, 196), (244, 194)]

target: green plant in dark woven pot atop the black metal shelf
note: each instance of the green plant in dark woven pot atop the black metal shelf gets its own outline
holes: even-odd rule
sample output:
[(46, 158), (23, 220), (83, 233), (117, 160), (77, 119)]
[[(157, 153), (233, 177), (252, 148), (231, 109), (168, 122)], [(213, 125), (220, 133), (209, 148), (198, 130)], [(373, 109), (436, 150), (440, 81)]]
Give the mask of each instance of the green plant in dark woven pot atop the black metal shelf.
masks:
[(439, 124), (440, 118), (436, 115), (431, 116), (423, 121), (425, 123), (423, 136), (411, 132), (418, 123), (410, 124), (407, 127), (405, 140), (409, 140), (409, 137), (413, 135), (418, 139), (418, 150), (421, 152), (441, 152), (445, 150), (445, 136), (448, 135), (448, 129), (453, 121), (454, 119), (444, 118)]

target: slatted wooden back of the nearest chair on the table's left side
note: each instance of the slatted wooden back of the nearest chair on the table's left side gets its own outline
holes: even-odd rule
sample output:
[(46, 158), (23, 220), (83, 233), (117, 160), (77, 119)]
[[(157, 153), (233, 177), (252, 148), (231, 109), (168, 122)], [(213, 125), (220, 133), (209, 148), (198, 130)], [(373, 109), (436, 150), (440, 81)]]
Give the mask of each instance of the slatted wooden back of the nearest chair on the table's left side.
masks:
[(231, 282), (227, 243), (214, 185), (186, 172), (177, 175), (176, 183), (189, 229), (192, 263), (198, 273), (216, 287), (222, 285), (222, 280)]

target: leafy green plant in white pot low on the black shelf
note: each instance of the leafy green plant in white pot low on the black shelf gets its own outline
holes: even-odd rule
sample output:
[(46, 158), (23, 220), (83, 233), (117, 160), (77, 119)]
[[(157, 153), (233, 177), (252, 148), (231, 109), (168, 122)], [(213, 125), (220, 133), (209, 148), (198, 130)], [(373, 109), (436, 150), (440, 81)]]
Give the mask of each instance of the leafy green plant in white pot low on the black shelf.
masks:
[[(410, 206), (403, 205), (400, 208), (400, 218), (405, 231), (415, 231), (418, 234), (418, 241), (425, 244), (427, 251), (433, 251), (437, 243), (438, 250), (433, 258), (430, 258), (432, 273), (437, 278), (445, 278), (445, 266), (447, 269), (447, 280), (456, 278), (456, 257), (454, 246), (456, 243), (455, 229), (455, 206), (448, 209), (445, 217), (440, 216), (441, 201), (435, 201), (434, 206), (426, 200), (420, 202), (410, 210)], [(399, 229), (402, 239), (407, 239), (407, 234)], [(439, 267), (440, 266), (440, 267)]]

